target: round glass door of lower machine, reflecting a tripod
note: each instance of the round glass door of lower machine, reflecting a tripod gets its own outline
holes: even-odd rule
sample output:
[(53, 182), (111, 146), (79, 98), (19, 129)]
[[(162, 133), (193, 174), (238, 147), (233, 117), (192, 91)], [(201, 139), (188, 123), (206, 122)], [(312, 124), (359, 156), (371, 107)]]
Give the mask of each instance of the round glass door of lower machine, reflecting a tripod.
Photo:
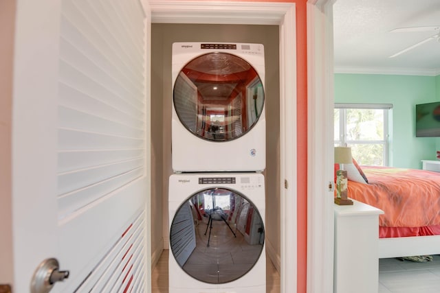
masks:
[(263, 253), (263, 219), (254, 204), (228, 189), (206, 189), (181, 204), (170, 246), (191, 277), (228, 283), (249, 272)]

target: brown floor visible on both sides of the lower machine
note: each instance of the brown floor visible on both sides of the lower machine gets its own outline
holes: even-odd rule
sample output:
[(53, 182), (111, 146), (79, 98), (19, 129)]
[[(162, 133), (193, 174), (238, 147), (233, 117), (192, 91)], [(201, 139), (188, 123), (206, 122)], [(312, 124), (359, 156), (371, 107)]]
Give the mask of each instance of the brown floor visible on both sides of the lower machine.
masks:
[[(266, 257), (266, 292), (280, 293), (280, 274)], [(151, 274), (151, 292), (168, 293), (168, 250), (164, 250)]]

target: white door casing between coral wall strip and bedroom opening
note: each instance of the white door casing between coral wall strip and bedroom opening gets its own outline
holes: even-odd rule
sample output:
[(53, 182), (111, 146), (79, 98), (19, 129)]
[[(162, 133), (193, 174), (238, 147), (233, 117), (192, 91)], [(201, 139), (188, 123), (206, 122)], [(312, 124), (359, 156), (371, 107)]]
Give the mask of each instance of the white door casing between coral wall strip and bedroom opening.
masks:
[(333, 3), (307, 3), (307, 293), (333, 293)]

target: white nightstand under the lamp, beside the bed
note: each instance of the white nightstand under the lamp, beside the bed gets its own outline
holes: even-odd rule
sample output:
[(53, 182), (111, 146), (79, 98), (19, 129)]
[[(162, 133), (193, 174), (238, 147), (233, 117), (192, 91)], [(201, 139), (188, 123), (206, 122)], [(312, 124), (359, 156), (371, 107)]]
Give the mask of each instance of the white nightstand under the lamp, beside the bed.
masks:
[(334, 204), (333, 292), (371, 293), (379, 286), (379, 215), (382, 210), (353, 200)]

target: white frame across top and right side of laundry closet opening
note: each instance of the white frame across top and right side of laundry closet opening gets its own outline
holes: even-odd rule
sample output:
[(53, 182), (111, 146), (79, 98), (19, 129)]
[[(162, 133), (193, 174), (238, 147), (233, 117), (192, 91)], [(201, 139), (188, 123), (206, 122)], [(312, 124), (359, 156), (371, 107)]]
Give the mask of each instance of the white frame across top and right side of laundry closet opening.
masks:
[[(296, 292), (296, 19), (295, 3), (150, 0), (152, 23), (279, 25), (281, 125), (281, 292)], [(289, 54), (287, 54), (289, 53)], [(289, 98), (287, 98), (289, 97)], [(294, 98), (292, 98), (294, 97)], [(289, 127), (286, 127), (289, 126)], [(289, 152), (287, 152), (289, 150)], [(289, 261), (285, 261), (289, 259)], [(277, 264), (276, 264), (277, 265)], [(287, 277), (288, 276), (288, 277)]]

